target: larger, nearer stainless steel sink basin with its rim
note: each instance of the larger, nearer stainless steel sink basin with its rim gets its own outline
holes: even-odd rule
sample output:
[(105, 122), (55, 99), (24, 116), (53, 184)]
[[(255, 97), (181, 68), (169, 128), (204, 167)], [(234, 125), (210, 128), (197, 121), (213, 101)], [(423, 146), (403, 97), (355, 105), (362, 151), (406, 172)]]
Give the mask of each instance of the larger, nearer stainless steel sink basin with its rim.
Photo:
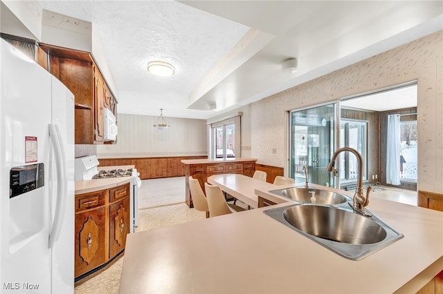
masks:
[(354, 213), (347, 203), (295, 204), (264, 213), (347, 259), (363, 259), (403, 237), (375, 215)]

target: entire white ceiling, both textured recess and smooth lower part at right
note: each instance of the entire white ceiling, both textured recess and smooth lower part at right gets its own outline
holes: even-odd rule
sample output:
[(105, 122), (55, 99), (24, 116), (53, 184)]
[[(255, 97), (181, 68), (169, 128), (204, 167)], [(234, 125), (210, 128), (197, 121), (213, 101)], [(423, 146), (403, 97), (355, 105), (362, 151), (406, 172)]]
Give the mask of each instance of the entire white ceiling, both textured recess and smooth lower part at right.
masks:
[[(443, 29), (442, 1), (39, 3), (93, 23), (119, 112), (165, 117), (207, 119)], [(298, 72), (282, 72), (288, 57)], [(150, 75), (155, 59), (176, 74)]]

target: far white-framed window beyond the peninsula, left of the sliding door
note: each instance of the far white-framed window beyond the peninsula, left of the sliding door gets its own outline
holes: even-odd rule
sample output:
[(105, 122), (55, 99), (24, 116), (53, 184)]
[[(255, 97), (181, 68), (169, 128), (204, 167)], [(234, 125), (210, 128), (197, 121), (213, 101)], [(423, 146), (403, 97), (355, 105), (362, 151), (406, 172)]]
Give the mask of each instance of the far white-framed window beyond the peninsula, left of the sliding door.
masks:
[(236, 116), (211, 124), (212, 158), (235, 158), (240, 143), (239, 121), (240, 117)]

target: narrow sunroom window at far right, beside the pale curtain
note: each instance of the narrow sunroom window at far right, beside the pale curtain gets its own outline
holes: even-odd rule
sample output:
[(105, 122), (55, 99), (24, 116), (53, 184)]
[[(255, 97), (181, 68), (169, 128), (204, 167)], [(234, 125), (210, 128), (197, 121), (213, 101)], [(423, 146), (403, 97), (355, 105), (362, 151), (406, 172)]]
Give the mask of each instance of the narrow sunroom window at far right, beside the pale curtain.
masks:
[(400, 121), (400, 179), (417, 182), (417, 121)]

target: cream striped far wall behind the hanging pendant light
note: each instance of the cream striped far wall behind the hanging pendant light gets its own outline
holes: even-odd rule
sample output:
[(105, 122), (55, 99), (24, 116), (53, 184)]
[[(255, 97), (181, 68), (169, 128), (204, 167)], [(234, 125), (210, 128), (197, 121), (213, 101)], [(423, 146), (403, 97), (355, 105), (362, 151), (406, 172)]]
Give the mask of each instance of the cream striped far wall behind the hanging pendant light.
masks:
[(206, 120), (165, 117), (170, 128), (153, 127), (159, 117), (118, 117), (117, 144), (97, 145), (98, 158), (207, 155)]

